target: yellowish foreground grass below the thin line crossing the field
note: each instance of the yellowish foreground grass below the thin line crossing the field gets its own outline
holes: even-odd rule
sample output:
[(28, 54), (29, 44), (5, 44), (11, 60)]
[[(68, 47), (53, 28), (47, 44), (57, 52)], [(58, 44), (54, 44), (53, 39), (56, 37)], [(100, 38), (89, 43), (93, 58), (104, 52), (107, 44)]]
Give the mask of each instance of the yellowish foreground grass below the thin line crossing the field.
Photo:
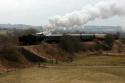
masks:
[(0, 76), (0, 83), (125, 83), (125, 68), (29, 68)]

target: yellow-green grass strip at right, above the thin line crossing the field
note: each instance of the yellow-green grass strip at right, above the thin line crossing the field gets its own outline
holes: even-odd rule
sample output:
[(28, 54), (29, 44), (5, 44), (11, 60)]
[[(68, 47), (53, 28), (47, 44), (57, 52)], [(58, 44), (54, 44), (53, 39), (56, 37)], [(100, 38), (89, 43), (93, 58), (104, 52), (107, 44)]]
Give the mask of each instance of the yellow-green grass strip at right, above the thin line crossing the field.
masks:
[(125, 56), (83, 55), (75, 57), (72, 64), (76, 65), (115, 65), (125, 66)]

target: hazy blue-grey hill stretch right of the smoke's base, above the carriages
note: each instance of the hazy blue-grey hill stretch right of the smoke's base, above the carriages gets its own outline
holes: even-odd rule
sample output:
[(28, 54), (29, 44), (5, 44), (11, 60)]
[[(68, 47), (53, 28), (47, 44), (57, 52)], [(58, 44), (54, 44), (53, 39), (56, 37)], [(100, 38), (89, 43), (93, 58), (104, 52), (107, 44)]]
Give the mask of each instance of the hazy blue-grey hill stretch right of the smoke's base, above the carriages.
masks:
[(122, 32), (121, 26), (82, 26), (77, 28), (58, 28), (55, 33), (117, 33)]

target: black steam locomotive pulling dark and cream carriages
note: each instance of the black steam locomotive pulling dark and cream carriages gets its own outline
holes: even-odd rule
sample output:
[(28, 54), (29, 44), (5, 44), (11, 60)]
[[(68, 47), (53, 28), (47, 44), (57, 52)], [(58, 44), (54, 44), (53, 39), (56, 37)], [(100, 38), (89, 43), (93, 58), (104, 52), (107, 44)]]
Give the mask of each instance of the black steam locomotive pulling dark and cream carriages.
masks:
[(69, 36), (73, 38), (77, 38), (80, 41), (93, 41), (95, 39), (104, 40), (107, 34), (30, 34), (21, 36), (18, 38), (20, 45), (34, 45), (40, 44), (42, 42), (45, 43), (59, 43), (61, 38), (64, 36)]

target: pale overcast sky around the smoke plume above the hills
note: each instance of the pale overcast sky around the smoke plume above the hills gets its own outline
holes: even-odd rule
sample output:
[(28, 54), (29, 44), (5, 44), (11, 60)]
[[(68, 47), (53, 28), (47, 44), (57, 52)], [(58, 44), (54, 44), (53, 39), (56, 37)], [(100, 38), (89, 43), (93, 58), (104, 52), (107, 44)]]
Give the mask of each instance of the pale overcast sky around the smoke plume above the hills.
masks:
[[(65, 15), (102, 0), (0, 0), (0, 24), (45, 25), (56, 15)], [(103, 0), (104, 1), (104, 0)], [(123, 25), (123, 17), (97, 19), (87, 25)]]

